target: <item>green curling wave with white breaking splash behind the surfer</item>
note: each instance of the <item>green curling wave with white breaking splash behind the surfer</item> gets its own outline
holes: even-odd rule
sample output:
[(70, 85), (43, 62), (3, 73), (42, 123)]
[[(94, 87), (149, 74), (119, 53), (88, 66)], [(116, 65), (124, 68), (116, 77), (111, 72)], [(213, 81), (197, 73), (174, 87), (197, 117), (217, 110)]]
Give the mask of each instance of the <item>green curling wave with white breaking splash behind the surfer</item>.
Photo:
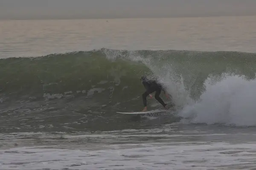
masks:
[(177, 108), (183, 108), (181, 116), (194, 115), (200, 123), (256, 125), (255, 72), (256, 54), (230, 51), (103, 48), (6, 58), (0, 59), (0, 101), (84, 96), (97, 105), (142, 108), (140, 77), (146, 74), (163, 82)]

